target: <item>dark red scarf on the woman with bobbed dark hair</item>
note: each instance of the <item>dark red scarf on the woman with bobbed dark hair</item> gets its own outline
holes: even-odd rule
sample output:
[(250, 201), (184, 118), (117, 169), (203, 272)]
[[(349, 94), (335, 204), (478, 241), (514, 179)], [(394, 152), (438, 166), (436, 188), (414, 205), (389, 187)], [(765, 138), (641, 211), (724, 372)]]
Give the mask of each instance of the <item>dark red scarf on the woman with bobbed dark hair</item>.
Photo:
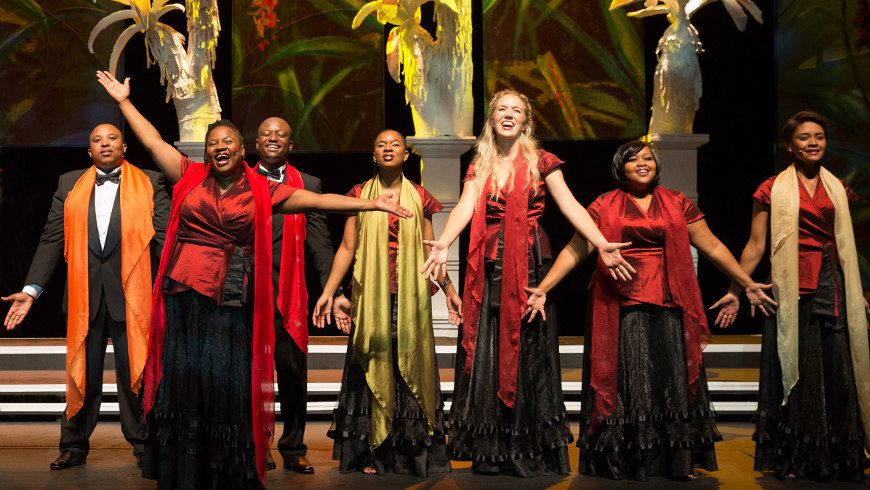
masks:
[[(598, 228), (609, 242), (622, 241), (625, 201), (628, 194), (621, 190), (601, 197)], [(701, 356), (710, 331), (701, 303), (701, 290), (690, 253), (689, 232), (683, 217), (682, 198), (673, 191), (658, 186), (653, 190), (665, 222), (665, 267), (668, 289), (674, 302), (683, 311), (683, 338), (686, 349), (686, 372), (689, 383), (689, 401), (698, 391)], [(601, 258), (593, 288), (592, 313), (592, 387), (595, 388), (595, 410), (589, 431), (616, 410), (617, 358), (619, 355), (619, 284), (611, 276)]]

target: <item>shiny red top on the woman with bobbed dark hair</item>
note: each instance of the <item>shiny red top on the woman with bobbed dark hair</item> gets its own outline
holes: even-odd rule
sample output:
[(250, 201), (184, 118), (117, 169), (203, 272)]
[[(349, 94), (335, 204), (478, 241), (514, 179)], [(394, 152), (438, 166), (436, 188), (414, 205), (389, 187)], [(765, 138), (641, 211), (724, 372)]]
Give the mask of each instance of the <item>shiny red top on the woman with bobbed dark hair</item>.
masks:
[[(675, 193), (681, 200), (681, 209), (686, 224), (694, 223), (704, 217), (698, 206), (682, 193)], [(600, 226), (601, 202), (599, 196), (586, 210)], [(629, 281), (619, 281), (620, 305), (649, 303), (659, 306), (677, 307), (668, 289), (667, 268), (665, 267), (665, 223), (655, 199), (650, 202), (646, 213), (628, 194), (625, 194), (625, 215), (623, 218), (622, 242), (631, 242), (629, 248), (622, 249), (625, 257), (637, 274)]]

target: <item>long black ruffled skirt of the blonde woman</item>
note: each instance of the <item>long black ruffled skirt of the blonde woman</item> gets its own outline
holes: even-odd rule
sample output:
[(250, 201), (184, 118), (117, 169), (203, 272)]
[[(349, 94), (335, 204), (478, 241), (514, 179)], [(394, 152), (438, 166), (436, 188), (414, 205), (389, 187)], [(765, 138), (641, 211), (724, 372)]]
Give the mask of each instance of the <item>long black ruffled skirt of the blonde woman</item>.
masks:
[[(499, 254), (501, 255), (501, 254)], [(456, 348), (456, 375), (450, 409), (451, 459), (472, 461), (478, 473), (511, 473), (532, 477), (571, 471), (568, 445), (574, 440), (562, 395), (559, 366), (559, 330), (555, 311), (523, 322), (517, 366), (517, 393), (513, 408), (498, 396), (499, 308), (497, 264), (487, 263), (483, 302), (471, 373), (465, 373), (466, 351), (460, 329)], [(538, 284), (543, 271), (530, 260), (529, 284)]]

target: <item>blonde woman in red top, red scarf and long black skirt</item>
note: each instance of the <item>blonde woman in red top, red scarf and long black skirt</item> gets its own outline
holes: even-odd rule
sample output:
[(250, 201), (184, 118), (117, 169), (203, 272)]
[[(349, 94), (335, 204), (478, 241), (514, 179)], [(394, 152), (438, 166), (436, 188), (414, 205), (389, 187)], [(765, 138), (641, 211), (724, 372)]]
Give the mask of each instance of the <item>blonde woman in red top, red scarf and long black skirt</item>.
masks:
[(478, 473), (570, 471), (558, 328), (521, 320), (523, 288), (543, 278), (550, 255), (538, 226), (546, 195), (596, 244), (614, 278), (633, 271), (619, 255), (627, 244), (604, 239), (565, 184), (562, 163), (538, 149), (528, 99), (497, 93), (459, 203), (439, 240), (426, 242), (432, 253), (422, 272), (443, 273), (448, 247), (471, 223), (448, 447)]

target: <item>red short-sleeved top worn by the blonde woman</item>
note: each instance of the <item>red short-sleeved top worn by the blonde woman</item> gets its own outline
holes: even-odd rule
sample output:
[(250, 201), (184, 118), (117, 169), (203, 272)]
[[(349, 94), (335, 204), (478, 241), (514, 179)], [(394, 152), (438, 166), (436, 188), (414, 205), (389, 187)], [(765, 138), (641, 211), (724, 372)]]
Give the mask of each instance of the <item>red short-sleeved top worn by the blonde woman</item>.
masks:
[[(547, 184), (544, 182), (544, 177), (556, 170), (559, 165), (565, 163), (559, 157), (544, 150), (538, 150), (538, 172), (541, 174), (541, 180), (538, 181), (537, 193), (535, 188), (529, 186), (529, 212), (526, 219), (529, 223), (529, 248), (534, 246), (535, 232), (538, 232), (538, 219), (544, 214), (544, 200), (547, 197)], [(477, 174), (474, 171), (474, 164), (468, 166), (468, 171), (465, 173), (463, 182), (474, 181)], [(484, 192), (489, 192), (490, 189), (485, 189)], [(498, 195), (488, 195), (486, 200), (486, 250), (484, 257), (486, 260), (496, 260), (498, 253), (498, 229), (505, 215), (505, 189), (498, 190)], [(543, 231), (540, 231), (541, 238), (541, 254), (544, 257), (550, 257), (549, 241), (546, 239)]]

